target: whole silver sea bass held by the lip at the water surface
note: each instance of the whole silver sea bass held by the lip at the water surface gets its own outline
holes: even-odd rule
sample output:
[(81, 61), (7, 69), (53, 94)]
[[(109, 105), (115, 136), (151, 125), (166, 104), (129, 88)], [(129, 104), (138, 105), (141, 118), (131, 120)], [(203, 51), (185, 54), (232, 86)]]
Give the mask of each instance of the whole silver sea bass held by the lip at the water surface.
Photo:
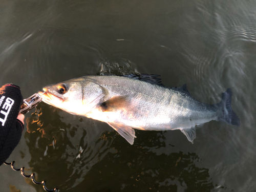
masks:
[(137, 130), (181, 130), (193, 143), (197, 125), (216, 120), (240, 125), (231, 109), (231, 89), (217, 104), (194, 99), (186, 85), (167, 88), (159, 75), (88, 75), (43, 89), (42, 101), (74, 115), (108, 123), (130, 144)]

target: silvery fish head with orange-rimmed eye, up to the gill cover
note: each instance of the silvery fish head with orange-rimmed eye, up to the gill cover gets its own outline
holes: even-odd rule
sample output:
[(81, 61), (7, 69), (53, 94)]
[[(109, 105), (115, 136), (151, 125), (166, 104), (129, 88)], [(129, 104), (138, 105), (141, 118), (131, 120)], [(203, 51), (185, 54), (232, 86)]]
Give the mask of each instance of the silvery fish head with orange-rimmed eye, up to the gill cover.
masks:
[(42, 101), (75, 115), (89, 113), (105, 96), (98, 84), (84, 78), (52, 84), (43, 90)]

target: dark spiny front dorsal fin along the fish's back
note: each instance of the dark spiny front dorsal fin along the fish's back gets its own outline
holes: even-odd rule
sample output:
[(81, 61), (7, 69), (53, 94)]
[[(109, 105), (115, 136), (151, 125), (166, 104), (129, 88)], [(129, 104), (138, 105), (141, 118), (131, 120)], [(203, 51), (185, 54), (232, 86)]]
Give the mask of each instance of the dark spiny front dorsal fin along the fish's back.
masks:
[(149, 75), (149, 74), (135, 73), (135, 74), (130, 74), (130, 75), (119, 75), (119, 76), (137, 79), (137, 80), (149, 82), (151, 84), (158, 84), (159, 86), (163, 86), (163, 84), (161, 83), (160, 75)]

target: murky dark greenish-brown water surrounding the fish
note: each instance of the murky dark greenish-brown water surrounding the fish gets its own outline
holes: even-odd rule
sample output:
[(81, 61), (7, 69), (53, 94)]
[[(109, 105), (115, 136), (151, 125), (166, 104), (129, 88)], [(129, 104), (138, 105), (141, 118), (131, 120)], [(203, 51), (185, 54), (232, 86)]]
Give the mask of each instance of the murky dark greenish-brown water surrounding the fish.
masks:
[[(235, 127), (212, 121), (194, 144), (180, 131), (137, 131), (40, 103), (8, 159), (59, 191), (255, 191), (255, 1), (6, 1), (0, 85), (24, 98), (87, 74), (159, 74), (168, 87), (217, 103), (231, 88)], [(44, 191), (0, 167), (1, 191)], [(15, 186), (15, 187), (14, 187)], [(11, 189), (11, 191), (16, 191)]]

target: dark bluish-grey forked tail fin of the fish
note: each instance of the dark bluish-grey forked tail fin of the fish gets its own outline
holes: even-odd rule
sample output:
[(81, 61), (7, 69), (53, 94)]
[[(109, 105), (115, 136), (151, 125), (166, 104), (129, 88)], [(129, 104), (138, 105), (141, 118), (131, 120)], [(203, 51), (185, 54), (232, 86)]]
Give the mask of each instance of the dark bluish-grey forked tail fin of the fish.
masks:
[(222, 113), (217, 120), (224, 121), (228, 124), (239, 126), (240, 120), (237, 114), (234, 113), (231, 108), (231, 96), (232, 96), (231, 89), (227, 89), (225, 93), (222, 93), (222, 100), (220, 103), (217, 104), (218, 108), (221, 109)]

